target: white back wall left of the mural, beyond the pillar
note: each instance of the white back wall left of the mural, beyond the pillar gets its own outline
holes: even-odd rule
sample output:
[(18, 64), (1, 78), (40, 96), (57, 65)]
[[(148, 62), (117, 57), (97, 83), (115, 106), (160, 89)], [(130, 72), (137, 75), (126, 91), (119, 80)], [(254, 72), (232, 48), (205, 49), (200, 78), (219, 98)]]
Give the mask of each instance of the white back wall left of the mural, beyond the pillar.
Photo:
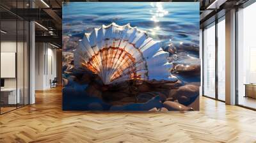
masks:
[(35, 47), (35, 89), (49, 89), (50, 80), (56, 77), (56, 49), (49, 43), (36, 43)]

